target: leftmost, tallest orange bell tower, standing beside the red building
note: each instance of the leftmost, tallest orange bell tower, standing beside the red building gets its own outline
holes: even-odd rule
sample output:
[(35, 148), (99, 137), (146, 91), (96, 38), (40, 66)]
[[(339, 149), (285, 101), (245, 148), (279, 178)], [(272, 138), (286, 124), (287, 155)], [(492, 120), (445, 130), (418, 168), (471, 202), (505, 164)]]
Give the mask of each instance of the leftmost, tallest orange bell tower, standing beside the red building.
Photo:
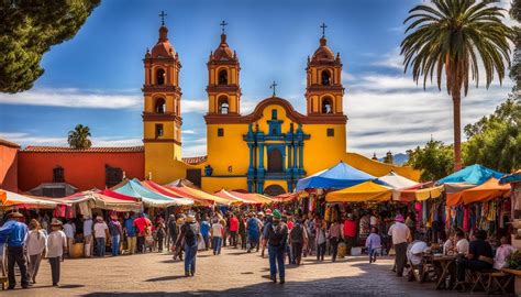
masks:
[(181, 89), (179, 55), (168, 41), (166, 14), (162, 12), (159, 38), (143, 59), (143, 142), (145, 157), (181, 160)]

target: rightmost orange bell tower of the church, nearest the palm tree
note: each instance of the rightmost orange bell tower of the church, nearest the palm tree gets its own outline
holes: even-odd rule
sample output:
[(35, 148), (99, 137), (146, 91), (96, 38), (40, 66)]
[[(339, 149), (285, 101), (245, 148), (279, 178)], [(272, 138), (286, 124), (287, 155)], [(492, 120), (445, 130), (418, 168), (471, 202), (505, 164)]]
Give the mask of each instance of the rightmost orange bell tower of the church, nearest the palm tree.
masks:
[(344, 114), (342, 109), (344, 87), (342, 86), (342, 63), (328, 46), (324, 23), (320, 46), (308, 57), (306, 101), (310, 114)]

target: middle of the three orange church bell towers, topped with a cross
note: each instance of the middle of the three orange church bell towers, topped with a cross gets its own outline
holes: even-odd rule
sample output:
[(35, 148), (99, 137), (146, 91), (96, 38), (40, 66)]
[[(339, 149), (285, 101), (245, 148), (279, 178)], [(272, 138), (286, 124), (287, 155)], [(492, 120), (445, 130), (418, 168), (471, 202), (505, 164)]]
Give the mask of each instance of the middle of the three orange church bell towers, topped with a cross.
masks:
[(221, 43), (210, 52), (208, 66), (208, 116), (239, 116), (241, 113), (241, 88), (239, 84), (239, 58), (226, 43), (225, 26), (222, 21)]

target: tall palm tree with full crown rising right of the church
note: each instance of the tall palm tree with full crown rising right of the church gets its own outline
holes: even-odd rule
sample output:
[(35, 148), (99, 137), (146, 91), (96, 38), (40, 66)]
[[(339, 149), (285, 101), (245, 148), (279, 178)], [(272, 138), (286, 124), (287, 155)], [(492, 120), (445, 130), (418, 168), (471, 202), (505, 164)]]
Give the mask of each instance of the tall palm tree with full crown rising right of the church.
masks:
[(512, 30), (501, 22), (505, 10), (492, 2), (497, 1), (432, 0), (433, 6), (411, 9), (403, 22), (411, 21), (406, 34), (413, 30), (401, 43), (404, 72), (411, 67), (417, 84), (423, 76), (423, 89), (435, 76), (441, 90), (445, 76), (453, 100), (455, 169), (462, 168), (462, 89), (466, 96), (469, 78), (479, 85), (481, 66), (487, 89), (495, 73), (501, 84), (510, 66)]

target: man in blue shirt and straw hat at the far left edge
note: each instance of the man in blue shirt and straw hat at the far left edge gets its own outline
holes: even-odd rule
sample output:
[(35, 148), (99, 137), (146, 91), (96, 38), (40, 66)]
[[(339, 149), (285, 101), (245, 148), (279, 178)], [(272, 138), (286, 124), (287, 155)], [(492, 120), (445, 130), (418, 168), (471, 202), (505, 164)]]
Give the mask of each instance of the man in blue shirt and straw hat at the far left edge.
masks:
[(27, 226), (23, 220), (23, 215), (14, 211), (8, 215), (8, 221), (0, 228), (0, 243), (8, 244), (8, 289), (14, 289), (16, 279), (14, 278), (14, 263), (20, 268), (22, 276), (22, 288), (29, 287), (27, 262), (23, 254)]

